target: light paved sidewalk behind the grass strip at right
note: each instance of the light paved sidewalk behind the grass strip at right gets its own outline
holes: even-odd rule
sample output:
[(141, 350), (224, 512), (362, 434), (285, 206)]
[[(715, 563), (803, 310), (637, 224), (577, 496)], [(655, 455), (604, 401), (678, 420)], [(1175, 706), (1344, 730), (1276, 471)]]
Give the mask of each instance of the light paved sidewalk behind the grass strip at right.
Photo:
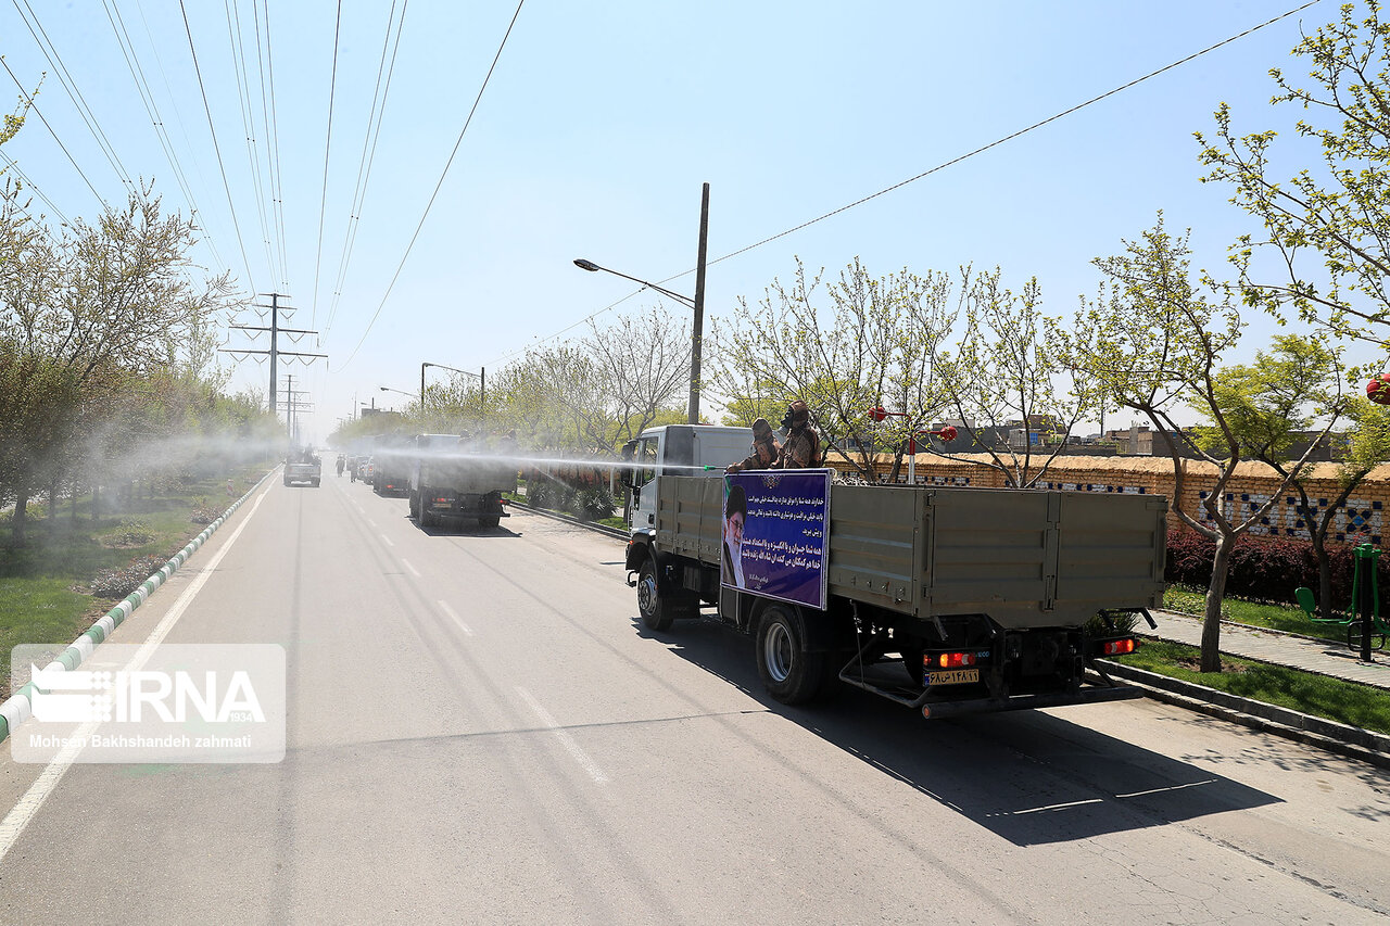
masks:
[[(1173, 610), (1155, 610), (1158, 630), (1150, 630), (1143, 620), (1136, 633), (1143, 637), (1169, 640), (1173, 642), (1201, 645), (1202, 619), (1180, 615)], [(1340, 630), (1340, 628), (1336, 628)], [(1390, 649), (1372, 652), (1372, 662), (1358, 659), (1358, 652), (1346, 644), (1330, 640), (1311, 640), (1273, 630), (1261, 630), (1248, 624), (1223, 623), (1220, 628), (1220, 651), (1232, 656), (1258, 659), (1276, 666), (1300, 669), (1333, 679), (1359, 681), (1377, 688), (1390, 690)]]

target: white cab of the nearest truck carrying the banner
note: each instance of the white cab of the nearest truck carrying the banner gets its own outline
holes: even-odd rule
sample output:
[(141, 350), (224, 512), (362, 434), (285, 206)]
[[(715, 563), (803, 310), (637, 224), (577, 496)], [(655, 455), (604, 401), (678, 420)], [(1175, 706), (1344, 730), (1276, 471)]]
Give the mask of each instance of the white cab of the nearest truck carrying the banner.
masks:
[(644, 530), (656, 523), (657, 476), (723, 477), (724, 467), (748, 457), (752, 448), (752, 428), (667, 424), (642, 431), (624, 448), (632, 464), (623, 480), (632, 489), (631, 528)]

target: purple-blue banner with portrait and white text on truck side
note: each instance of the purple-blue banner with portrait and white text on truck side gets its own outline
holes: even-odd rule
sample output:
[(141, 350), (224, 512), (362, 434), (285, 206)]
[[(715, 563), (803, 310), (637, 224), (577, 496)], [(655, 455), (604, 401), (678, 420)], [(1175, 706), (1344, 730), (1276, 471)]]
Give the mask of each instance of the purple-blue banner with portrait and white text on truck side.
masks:
[(830, 477), (830, 470), (727, 474), (720, 583), (823, 610)]

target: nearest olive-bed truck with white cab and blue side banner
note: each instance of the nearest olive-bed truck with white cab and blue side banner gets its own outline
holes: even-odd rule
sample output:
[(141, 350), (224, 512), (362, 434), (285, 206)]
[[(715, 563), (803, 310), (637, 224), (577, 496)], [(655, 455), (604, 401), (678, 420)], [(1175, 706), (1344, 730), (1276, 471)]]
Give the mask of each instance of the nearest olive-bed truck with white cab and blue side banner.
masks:
[[(831, 484), (824, 470), (710, 478), (742, 456), (721, 431), (752, 439), (673, 425), (637, 442), (626, 564), (649, 628), (713, 605), (755, 637), (785, 704), (833, 684), (927, 717), (1137, 695), (1095, 659), (1133, 651), (1126, 620), (1162, 601), (1165, 499)], [(1088, 669), (1102, 684), (1083, 684)]]

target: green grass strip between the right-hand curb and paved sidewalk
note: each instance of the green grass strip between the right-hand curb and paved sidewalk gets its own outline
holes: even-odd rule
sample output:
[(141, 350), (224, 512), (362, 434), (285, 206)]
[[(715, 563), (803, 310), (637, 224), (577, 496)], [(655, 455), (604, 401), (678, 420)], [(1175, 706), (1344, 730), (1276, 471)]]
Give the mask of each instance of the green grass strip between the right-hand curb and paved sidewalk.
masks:
[(1251, 701), (1264, 701), (1362, 730), (1390, 734), (1390, 691), (1226, 653), (1220, 658), (1220, 673), (1202, 673), (1197, 670), (1200, 656), (1195, 647), (1145, 640), (1136, 652), (1116, 656), (1115, 662)]

